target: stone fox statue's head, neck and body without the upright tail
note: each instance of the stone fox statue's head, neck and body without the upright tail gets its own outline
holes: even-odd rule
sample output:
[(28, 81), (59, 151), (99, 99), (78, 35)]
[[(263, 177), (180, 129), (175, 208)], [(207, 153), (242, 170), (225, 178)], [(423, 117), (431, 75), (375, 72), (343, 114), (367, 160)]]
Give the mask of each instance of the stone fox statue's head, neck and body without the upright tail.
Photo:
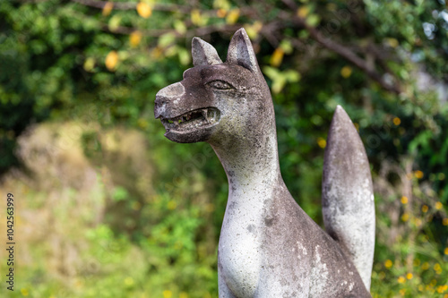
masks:
[(345, 247), (291, 197), (280, 175), (274, 109), (246, 31), (220, 64), (193, 41), (194, 68), (161, 89), (169, 140), (207, 141), (228, 176), (218, 249), (220, 297), (370, 297)]

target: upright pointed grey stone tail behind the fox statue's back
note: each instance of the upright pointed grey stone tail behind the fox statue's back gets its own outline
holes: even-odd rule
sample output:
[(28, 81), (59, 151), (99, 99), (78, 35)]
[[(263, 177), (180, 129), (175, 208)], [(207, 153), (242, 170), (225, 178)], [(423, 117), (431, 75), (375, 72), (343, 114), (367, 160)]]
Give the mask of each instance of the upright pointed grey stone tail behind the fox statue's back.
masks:
[(348, 252), (366, 289), (375, 249), (375, 201), (366, 149), (349, 115), (336, 107), (323, 159), (323, 223)]

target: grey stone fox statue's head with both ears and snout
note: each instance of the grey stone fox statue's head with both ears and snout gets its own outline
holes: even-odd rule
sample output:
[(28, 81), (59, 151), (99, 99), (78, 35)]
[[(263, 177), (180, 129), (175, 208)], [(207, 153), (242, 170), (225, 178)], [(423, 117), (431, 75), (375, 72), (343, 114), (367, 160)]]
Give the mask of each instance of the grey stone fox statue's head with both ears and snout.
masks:
[(225, 63), (201, 38), (193, 38), (192, 55), (184, 80), (156, 95), (154, 115), (169, 140), (254, 145), (266, 130), (275, 132), (271, 93), (244, 29), (231, 39)]

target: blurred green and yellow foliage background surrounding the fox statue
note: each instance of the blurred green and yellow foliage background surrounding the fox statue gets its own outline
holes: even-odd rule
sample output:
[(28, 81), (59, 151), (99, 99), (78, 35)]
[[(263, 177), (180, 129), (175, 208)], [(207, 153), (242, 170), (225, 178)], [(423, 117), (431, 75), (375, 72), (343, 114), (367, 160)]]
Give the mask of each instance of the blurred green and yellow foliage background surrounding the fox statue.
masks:
[[(0, 2), (2, 297), (217, 297), (228, 184), (205, 143), (163, 137), (156, 92), (244, 27), (271, 87), (280, 167), (322, 225), (343, 106), (371, 163), (374, 297), (448, 297), (445, 0)], [(6, 235), (5, 212), (0, 234)], [(4, 240), (5, 243), (5, 240)]]

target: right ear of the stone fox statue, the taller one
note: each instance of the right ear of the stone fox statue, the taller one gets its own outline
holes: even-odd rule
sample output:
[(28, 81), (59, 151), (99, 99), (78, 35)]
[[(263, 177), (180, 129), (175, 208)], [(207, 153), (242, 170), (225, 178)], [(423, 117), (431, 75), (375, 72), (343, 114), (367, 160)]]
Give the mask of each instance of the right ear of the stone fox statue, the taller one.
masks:
[(230, 41), (226, 62), (228, 64), (241, 65), (251, 72), (260, 71), (256, 61), (254, 47), (252, 47), (252, 43), (244, 28), (237, 30)]

